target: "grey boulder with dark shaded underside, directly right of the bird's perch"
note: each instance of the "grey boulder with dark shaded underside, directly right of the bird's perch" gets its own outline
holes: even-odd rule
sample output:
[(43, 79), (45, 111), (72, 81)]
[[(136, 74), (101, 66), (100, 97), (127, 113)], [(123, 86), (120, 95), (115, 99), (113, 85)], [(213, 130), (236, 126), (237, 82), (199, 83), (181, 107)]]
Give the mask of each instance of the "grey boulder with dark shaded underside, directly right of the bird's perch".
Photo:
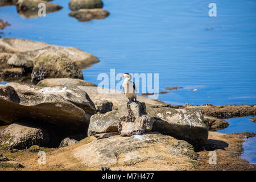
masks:
[(208, 137), (200, 109), (173, 109), (171, 107), (147, 107), (147, 114), (155, 117), (152, 131), (184, 139), (201, 146)]

